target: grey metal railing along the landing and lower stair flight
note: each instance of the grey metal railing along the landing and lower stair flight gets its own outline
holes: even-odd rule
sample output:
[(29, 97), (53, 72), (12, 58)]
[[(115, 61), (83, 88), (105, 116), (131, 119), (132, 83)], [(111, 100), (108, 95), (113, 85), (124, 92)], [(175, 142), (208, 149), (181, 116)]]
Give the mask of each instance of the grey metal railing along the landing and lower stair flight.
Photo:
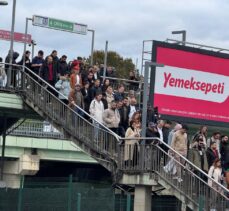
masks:
[[(118, 167), (121, 171), (125, 173), (156, 173), (159, 183), (167, 183), (196, 206), (202, 203), (205, 210), (213, 208), (225, 210), (228, 206), (228, 189), (174, 151), (169, 145), (160, 142), (157, 138), (123, 140), (127, 142), (120, 145)], [(138, 144), (127, 144), (131, 140), (135, 140)], [(152, 143), (141, 144), (145, 140)], [(169, 153), (164, 150), (165, 148), (169, 150)], [(173, 165), (170, 166), (170, 170), (165, 168), (168, 162)], [(172, 171), (174, 169), (176, 172)], [(211, 186), (209, 186), (208, 180), (211, 181)]]

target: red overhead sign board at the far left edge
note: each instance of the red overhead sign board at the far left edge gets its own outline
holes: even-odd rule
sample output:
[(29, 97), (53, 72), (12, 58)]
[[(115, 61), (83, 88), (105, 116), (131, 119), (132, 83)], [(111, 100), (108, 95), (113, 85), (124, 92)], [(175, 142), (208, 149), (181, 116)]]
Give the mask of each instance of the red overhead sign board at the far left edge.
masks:
[[(0, 39), (10, 41), (11, 32), (6, 30), (0, 30)], [(27, 44), (31, 44), (32, 36), (31, 34), (27, 34), (27, 36), (25, 36), (25, 34), (23, 33), (14, 32), (14, 41), (23, 43), (26, 42)]]

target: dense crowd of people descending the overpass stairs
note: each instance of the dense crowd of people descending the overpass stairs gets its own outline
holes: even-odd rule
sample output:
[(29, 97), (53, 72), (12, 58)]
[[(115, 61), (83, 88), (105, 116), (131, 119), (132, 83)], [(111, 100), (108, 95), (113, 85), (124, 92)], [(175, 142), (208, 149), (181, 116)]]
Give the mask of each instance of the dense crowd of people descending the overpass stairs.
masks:
[[(79, 115), (87, 118), (86, 112), (93, 117), (97, 127), (99, 127), (98, 123), (101, 123), (119, 136), (128, 138), (125, 142), (127, 146), (140, 144), (136, 139), (141, 136), (141, 106), (136, 99), (139, 83), (137, 83), (138, 80), (133, 70), (130, 70), (129, 79), (131, 81), (129, 81), (127, 93), (126, 85), (121, 83), (114, 91), (116, 74), (113, 67), (108, 66), (104, 70), (103, 65), (86, 65), (81, 57), (68, 63), (67, 56), (63, 55), (58, 58), (56, 50), (46, 58), (44, 58), (44, 52), (40, 50), (32, 61), (29, 51), (26, 51), (20, 62), (16, 62), (18, 56), (19, 54), (14, 52), (13, 64), (25, 62), (26, 67), (59, 91), (53, 94), (58, 95), (63, 103), (74, 109)], [(9, 62), (9, 55), (5, 62)], [(5, 70), (7, 71), (7, 68)], [(102, 77), (103, 71), (105, 71), (105, 78)], [(0, 86), (3, 86), (5, 75), (4, 68), (1, 66)], [(162, 142), (168, 144), (174, 151), (188, 158), (217, 182), (221, 183), (224, 177), (229, 182), (228, 136), (214, 132), (211, 137), (208, 137), (207, 127), (202, 126), (189, 140), (186, 125), (176, 123), (172, 128), (173, 125), (174, 123), (169, 120), (159, 119), (157, 109), (148, 105), (146, 137), (158, 138), (160, 140), (158, 144)], [(172, 153), (165, 145), (161, 144), (161, 147), (164, 151)], [(125, 153), (124, 160), (134, 164), (134, 156), (133, 149)], [(183, 162), (178, 154), (174, 154), (174, 158)], [(164, 161), (165, 171), (167, 173), (172, 171), (174, 178), (181, 182), (180, 166), (177, 164), (174, 171), (174, 168), (168, 168), (166, 163), (169, 164), (169, 161)], [(206, 179), (199, 171), (194, 173)], [(209, 185), (212, 185), (210, 180), (208, 182)]]

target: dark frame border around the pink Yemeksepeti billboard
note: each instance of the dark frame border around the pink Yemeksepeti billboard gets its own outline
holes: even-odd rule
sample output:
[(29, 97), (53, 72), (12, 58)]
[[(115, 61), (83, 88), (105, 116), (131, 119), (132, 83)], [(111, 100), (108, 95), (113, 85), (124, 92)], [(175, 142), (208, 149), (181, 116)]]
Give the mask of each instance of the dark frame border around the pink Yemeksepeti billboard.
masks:
[[(207, 56), (214, 56), (218, 58), (223, 59), (229, 59), (229, 54), (221, 53), (221, 52), (215, 52), (210, 51), (206, 49), (200, 49), (185, 45), (179, 45), (177, 43), (167, 43), (167, 42), (161, 42), (153, 40), (153, 46), (152, 46), (152, 62), (157, 62), (157, 48), (158, 47), (164, 47), (169, 49), (175, 49), (175, 50), (182, 50), (187, 51), (191, 53), (198, 53), (202, 55)], [(166, 66), (166, 64), (164, 64)], [(149, 92), (149, 102), (154, 108), (154, 87), (155, 87), (155, 73), (156, 73), (156, 67), (151, 67), (151, 75), (150, 75), (150, 92)], [(181, 117), (176, 115), (167, 115), (167, 114), (160, 114), (161, 119), (167, 119), (172, 120), (176, 122), (185, 122), (185, 123), (192, 123), (192, 124), (201, 124), (201, 125), (211, 125), (211, 126), (219, 126), (219, 127), (226, 127), (229, 126), (229, 122), (220, 122), (220, 121), (214, 121), (214, 120), (206, 120), (206, 119), (197, 119), (197, 118), (191, 118), (191, 117)]]

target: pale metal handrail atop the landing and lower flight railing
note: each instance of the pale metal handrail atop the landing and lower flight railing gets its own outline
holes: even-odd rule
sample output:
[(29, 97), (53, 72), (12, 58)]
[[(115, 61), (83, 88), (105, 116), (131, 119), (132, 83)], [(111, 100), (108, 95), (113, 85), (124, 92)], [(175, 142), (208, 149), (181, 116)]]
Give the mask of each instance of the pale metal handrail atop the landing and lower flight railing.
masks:
[[(154, 140), (154, 141), (158, 141), (160, 144), (166, 146), (170, 151), (172, 151), (174, 154), (179, 155), (179, 157), (181, 157), (186, 164), (190, 165), (193, 169), (198, 170), (201, 174), (203, 174), (204, 176), (206, 176), (208, 179), (214, 181), (214, 183), (216, 183), (218, 186), (220, 186), (220, 188), (222, 188), (226, 193), (229, 194), (229, 190), (227, 188), (225, 188), (222, 184), (218, 183), (217, 181), (215, 181), (213, 178), (211, 178), (208, 174), (206, 174), (202, 169), (198, 168), (197, 166), (195, 166), (191, 161), (189, 161), (186, 157), (184, 157), (183, 155), (181, 155), (179, 152), (175, 151), (171, 146), (169, 146), (168, 144), (166, 144), (165, 142), (161, 141), (160, 138), (157, 137), (135, 137), (135, 138), (120, 138), (120, 140)], [(161, 148), (161, 147), (160, 147)], [(184, 166), (185, 167), (185, 166)], [(199, 178), (201, 179), (201, 178)]]

